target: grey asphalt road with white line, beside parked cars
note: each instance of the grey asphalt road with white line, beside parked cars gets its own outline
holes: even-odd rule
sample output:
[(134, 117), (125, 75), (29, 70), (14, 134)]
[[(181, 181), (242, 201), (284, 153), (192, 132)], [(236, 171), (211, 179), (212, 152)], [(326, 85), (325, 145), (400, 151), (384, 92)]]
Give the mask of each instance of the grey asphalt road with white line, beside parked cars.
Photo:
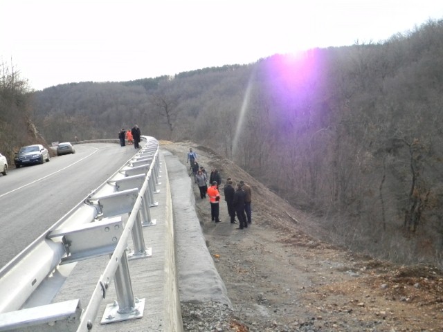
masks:
[[(138, 150), (75, 145), (75, 154), (0, 175), (0, 268), (120, 169)], [(12, 160), (8, 160), (12, 161)]]

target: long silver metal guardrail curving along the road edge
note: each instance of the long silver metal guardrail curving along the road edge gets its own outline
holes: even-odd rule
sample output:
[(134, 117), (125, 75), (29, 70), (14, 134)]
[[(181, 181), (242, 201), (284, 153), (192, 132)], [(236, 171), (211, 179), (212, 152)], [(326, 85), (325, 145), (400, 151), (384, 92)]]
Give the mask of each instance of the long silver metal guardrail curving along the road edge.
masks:
[[(134, 298), (127, 260), (151, 255), (142, 227), (156, 224), (149, 210), (158, 205), (153, 194), (161, 176), (159, 142), (142, 138), (146, 143), (133, 158), (0, 270), (0, 331), (90, 331), (113, 278), (118, 304), (107, 306), (102, 324), (143, 316), (144, 299)], [(55, 270), (100, 255), (111, 258), (84, 311), (78, 299), (19, 310)]]

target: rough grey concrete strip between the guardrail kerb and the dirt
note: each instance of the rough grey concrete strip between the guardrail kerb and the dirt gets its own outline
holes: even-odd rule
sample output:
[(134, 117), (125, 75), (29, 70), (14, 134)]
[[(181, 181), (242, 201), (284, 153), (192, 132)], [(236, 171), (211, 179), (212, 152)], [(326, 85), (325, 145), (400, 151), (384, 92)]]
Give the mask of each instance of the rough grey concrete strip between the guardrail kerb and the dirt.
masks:
[(187, 167), (167, 149), (161, 150), (168, 163), (168, 176), (173, 188), (171, 195), (180, 301), (182, 304), (219, 302), (232, 307), (226, 286), (206, 245), (195, 210), (193, 181)]

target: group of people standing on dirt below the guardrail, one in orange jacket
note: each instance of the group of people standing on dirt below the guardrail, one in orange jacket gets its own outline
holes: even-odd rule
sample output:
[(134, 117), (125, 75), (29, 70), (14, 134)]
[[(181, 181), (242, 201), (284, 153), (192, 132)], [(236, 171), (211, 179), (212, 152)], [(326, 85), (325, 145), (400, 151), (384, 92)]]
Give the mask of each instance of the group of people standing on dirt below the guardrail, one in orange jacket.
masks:
[[(195, 151), (192, 151), (192, 148), (189, 149), (186, 163), (190, 163), (190, 175), (194, 176), (194, 182), (199, 186), (200, 198), (205, 199), (206, 194), (208, 194), (211, 221), (219, 223), (221, 221), (219, 219), (219, 185), (221, 185), (219, 172), (215, 168), (211, 169), (209, 176), (210, 187), (208, 187), (206, 184), (208, 179), (206, 169), (204, 169), (203, 166), (199, 166), (197, 163), (197, 154)], [(240, 180), (234, 189), (232, 178), (227, 178), (223, 191), (224, 200), (226, 201), (228, 214), (230, 216), (230, 223), (237, 223), (237, 221), (235, 221), (235, 215), (237, 215), (239, 222), (237, 229), (243, 230), (244, 228), (248, 228), (248, 224), (252, 223), (251, 187), (247, 183), (244, 183), (243, 180)]]

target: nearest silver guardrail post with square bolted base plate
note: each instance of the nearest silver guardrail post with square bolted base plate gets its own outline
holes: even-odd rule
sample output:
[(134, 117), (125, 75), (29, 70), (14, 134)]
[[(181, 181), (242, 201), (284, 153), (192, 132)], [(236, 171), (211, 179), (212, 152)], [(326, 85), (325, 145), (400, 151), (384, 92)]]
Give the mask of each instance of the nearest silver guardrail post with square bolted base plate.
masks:
[(124, 250), (123, 255), (120, 257), (120, 264), (118, 264), (116, 274), (114, 275), (117, 302), (106, 306), (105, 313), (103, 313), (100, 322), (101, 324), (120, 322), (122, 320), (133, 320), (135, 318), (143, 317), (145, 299), (134, 298), (126, 254), (127, 252)]

